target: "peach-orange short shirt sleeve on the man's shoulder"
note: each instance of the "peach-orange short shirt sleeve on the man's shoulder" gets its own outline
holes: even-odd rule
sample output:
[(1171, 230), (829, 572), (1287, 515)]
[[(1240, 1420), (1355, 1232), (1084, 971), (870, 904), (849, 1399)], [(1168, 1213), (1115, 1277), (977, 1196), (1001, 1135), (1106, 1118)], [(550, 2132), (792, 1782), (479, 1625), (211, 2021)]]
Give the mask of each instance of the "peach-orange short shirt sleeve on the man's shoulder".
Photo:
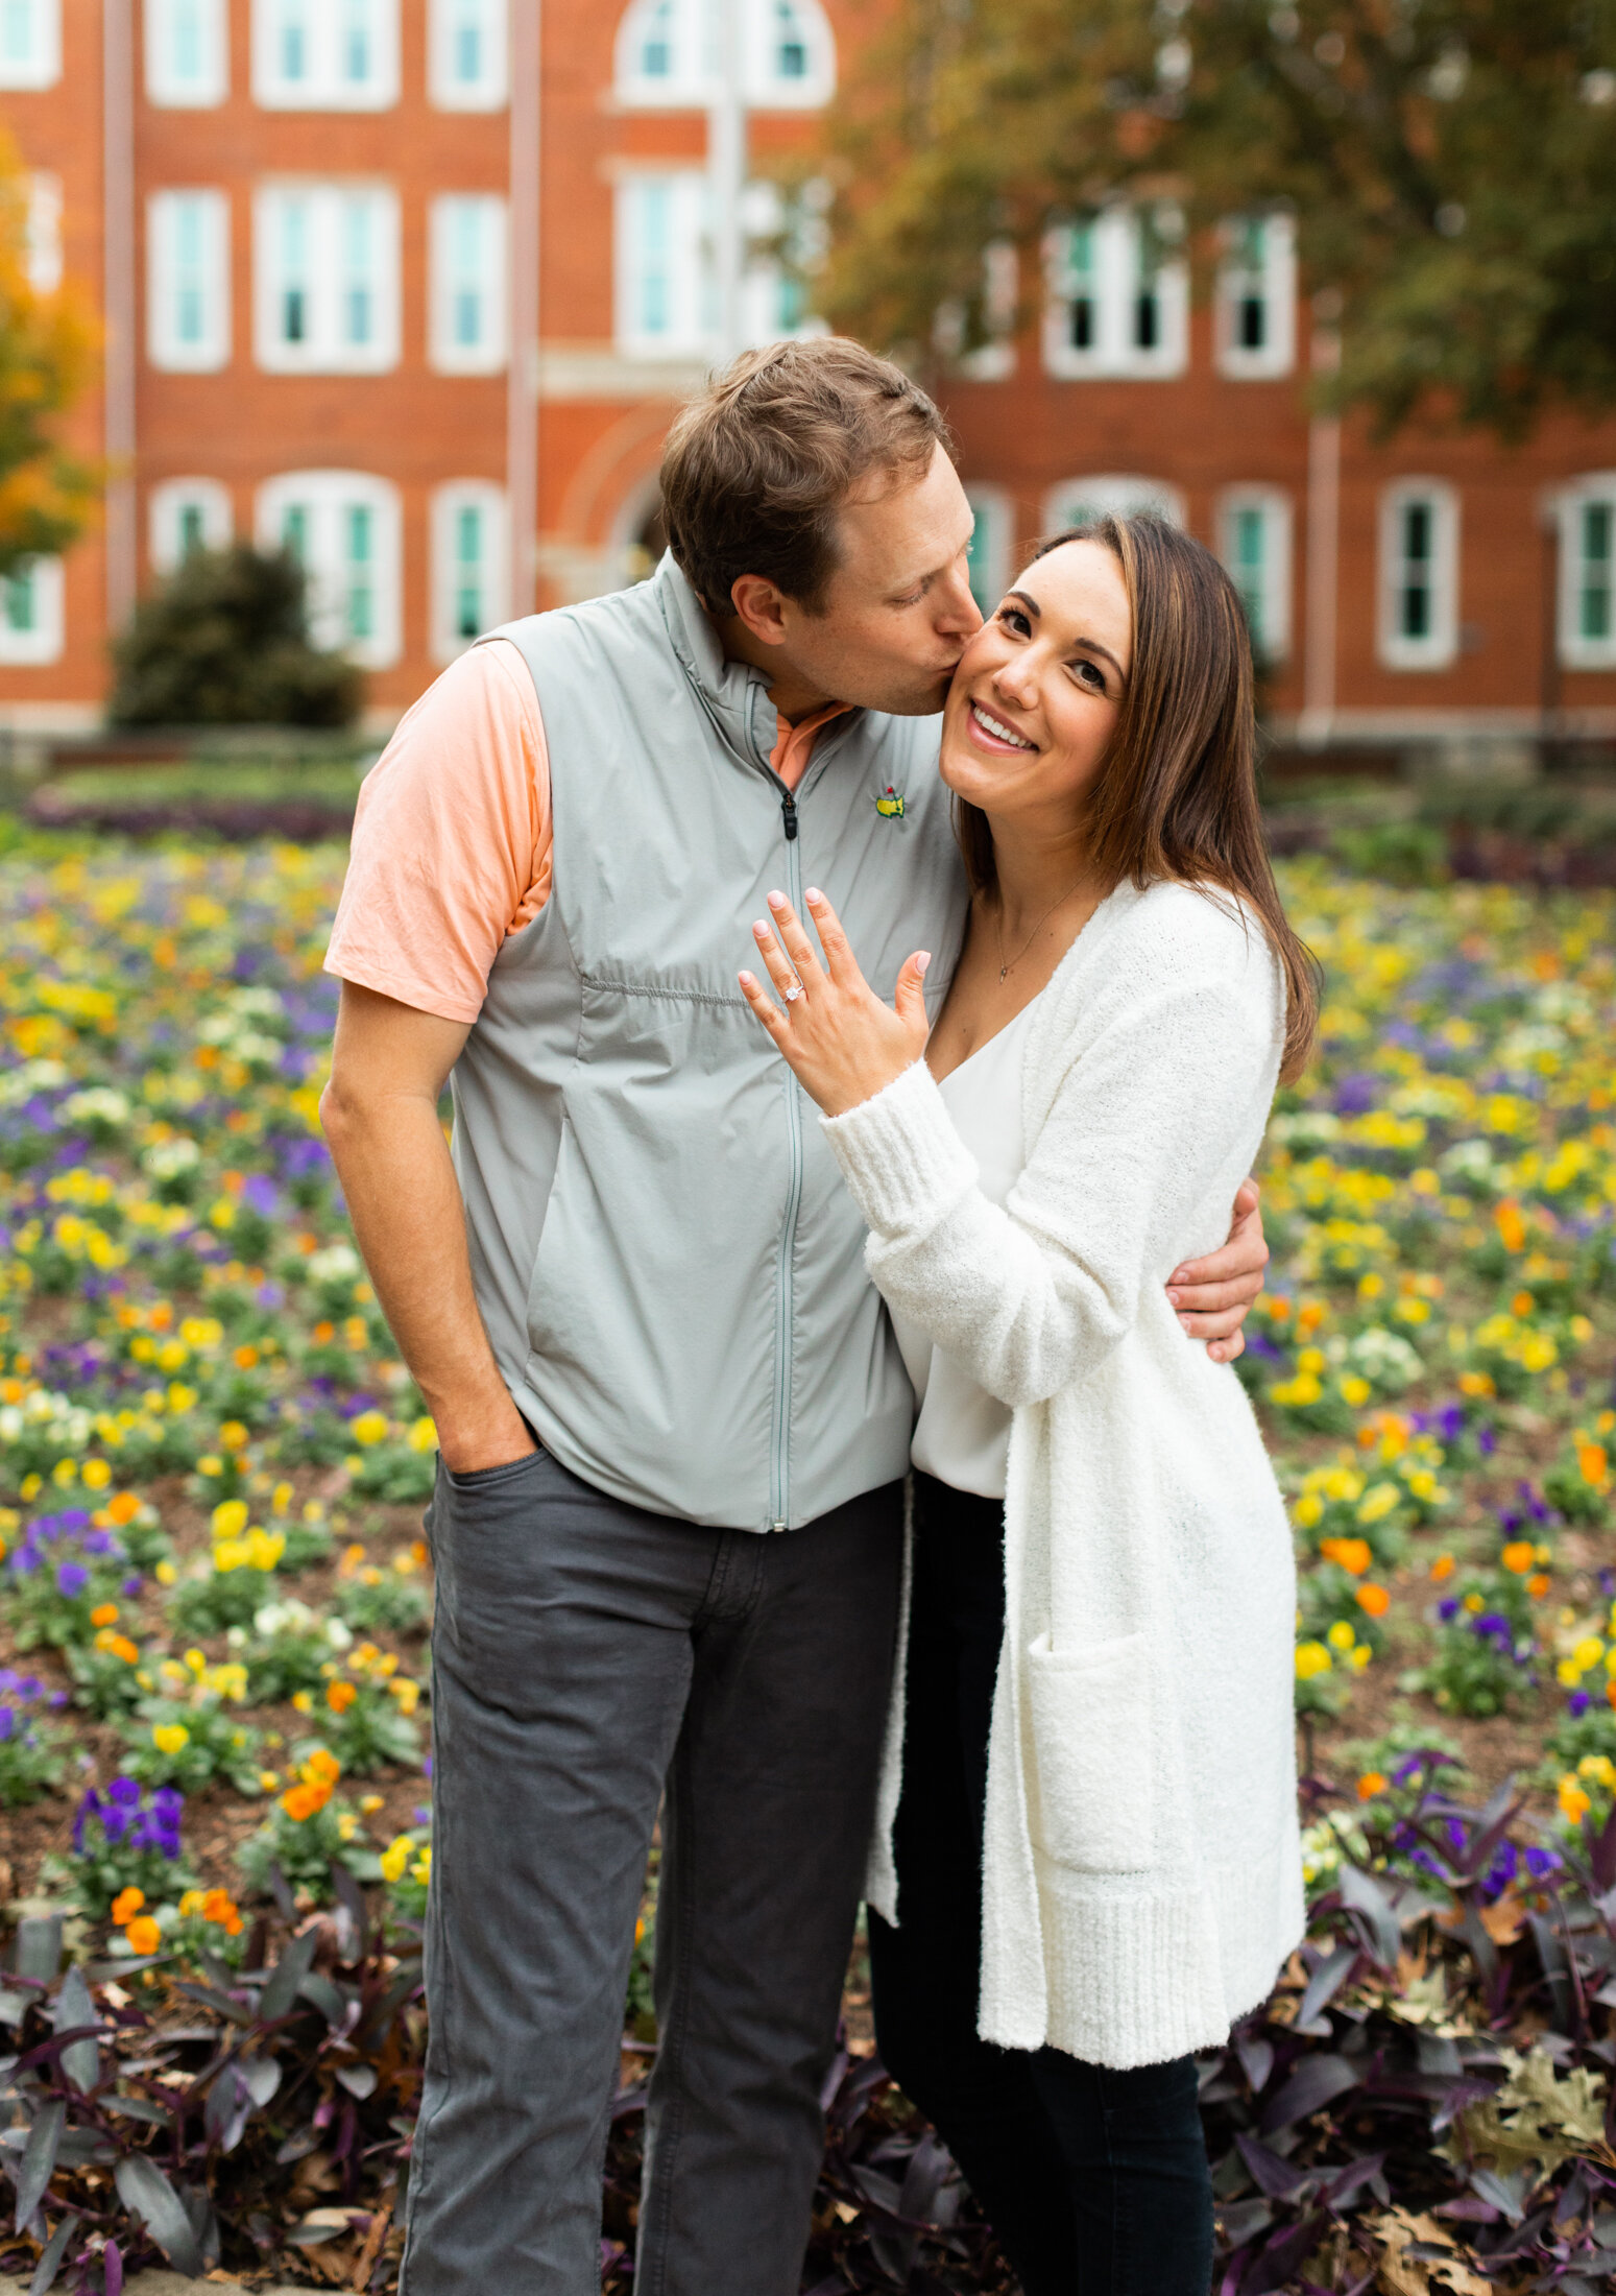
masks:
[(475, 645), (365, 776), (326, 971), (473, 1022), (507, 932), (551, 889), (551, 774), (514, 647)]

